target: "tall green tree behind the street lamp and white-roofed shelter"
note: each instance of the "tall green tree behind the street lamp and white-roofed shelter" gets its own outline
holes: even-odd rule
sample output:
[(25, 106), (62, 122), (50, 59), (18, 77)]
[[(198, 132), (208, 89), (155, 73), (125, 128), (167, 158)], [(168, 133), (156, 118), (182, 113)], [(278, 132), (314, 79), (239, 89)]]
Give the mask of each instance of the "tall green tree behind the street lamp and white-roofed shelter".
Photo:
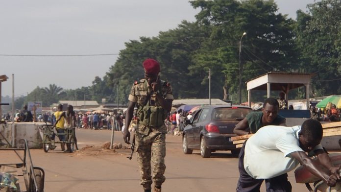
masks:
[[(247, 35), (241, 55), (243, 82), (265, 72), (295, 69), (294, 21), (277, 14), (273, 0), (195, 0), (191, 3), (201, 8), (196, 15), (197, 22), (212, 28), (204, 44), (207, 47), (201, 48), (209, 56), (202, 57), (200, 63), (206, 60), (218, 65), (217, 69), (224, 73), (219, 87), (229, 88), (232, 95), (238, 91), (239, 43), (244, 32)], [(243, 95), (245, 101), (247, 94)]]

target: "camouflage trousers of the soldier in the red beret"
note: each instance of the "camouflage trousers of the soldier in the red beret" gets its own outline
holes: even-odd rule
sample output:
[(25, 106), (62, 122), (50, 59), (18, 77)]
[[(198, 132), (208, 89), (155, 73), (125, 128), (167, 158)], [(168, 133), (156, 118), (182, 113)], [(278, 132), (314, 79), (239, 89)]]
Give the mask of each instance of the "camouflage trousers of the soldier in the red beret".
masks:
[[(151, 189), (151, 183), (161, 186), (165, 182), (166, 134), (151, 131), (147, 136), (136, 133), (137, 162), (140, 168), (140, 184), (144, 190)], [(153, 175), (151, 176), (151, 163)]]

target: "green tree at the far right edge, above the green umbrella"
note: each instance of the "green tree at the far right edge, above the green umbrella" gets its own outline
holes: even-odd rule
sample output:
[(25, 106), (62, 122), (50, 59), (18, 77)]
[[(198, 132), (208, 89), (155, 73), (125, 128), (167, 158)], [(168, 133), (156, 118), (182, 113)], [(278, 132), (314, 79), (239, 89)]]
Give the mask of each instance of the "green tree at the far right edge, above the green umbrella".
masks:
[(297, 11), (300, 69), (316, 73), (314, 96), (341, 94), (341, 0), (321, 0)]

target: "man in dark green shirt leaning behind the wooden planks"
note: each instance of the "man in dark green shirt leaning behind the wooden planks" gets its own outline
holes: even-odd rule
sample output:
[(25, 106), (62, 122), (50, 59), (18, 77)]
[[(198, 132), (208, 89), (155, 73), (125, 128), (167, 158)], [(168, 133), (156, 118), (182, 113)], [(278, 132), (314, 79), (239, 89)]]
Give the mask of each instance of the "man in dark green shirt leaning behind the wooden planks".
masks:
[(247, 114), (244, 120), (236, 125), (233, 132), (237, 135), (247, 135), (256, 133), (258, 129), (266, 125), (287, 126), (286, 119), (277, 115), (278, 110), (278, 101), (275, 98), (267, 98), (264, 101), (262, 111)]

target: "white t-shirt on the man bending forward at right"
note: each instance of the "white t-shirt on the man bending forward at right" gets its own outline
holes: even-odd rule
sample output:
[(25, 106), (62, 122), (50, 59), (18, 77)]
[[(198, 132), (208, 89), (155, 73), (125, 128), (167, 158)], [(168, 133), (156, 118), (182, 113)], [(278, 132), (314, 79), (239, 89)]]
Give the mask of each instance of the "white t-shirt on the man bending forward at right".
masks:
[[(299, 161), (290, 156), (299, 147), (298, 132), (301, 126), (268, 125), (250, 137), (244, 150), (244, 168), (255, 179), (269, 179), (296, 168)], [(318, 144), (313, 150), (322, 149)]]

